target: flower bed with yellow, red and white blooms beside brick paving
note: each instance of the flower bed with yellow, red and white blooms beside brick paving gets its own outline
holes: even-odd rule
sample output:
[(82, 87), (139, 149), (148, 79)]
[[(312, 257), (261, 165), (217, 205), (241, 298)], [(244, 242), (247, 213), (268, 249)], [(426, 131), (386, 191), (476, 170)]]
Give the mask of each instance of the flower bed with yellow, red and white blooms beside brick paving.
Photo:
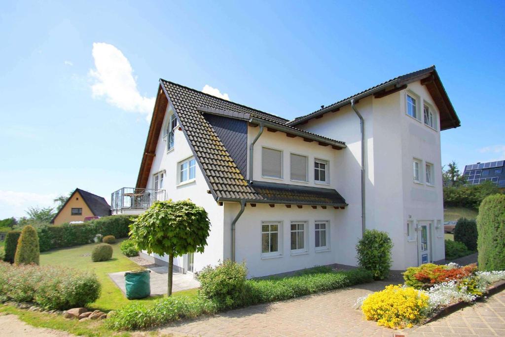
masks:
[(365, 318), (391, 328), (411, 327), (432, 319), (448, 307), (483, 297), (505, 271), (477, 271), (476, 265), (424, 264), (403, 273), (404, 285), (358, 299)]

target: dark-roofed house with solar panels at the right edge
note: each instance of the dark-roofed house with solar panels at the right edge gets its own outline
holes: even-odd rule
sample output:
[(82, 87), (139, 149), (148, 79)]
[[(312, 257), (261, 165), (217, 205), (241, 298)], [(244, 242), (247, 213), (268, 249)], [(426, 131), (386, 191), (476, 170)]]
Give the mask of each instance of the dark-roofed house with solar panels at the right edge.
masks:
[(477, 163), (465, 166), (463, 175), (467, 179), (467, 184), (478, 185), (484, 181), (491, 181), (498, 187), (505, 188), (505, 161)]

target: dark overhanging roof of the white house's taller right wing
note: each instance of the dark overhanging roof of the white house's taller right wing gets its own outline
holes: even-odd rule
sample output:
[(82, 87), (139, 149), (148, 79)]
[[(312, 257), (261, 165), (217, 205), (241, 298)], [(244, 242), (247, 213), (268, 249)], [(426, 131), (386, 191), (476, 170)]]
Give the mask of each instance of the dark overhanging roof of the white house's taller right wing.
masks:
[(340, 107), (350, 104), (351, 100), (360, 100), (371, 94), (374, 94), (376, 98), (383, 97), (388, 93), (392, 93), (398, 90), (407, 88), (407, 84), (421, 80), (421, 84), (426, 85), (426, 88), (431, 94), (431, 97), (435, 101), (435, 104), (440, 111), (440, 130), (446, 130), (450, 128), (456, 128), (461, 125), (460, 119), (450, 103), (449, 97), (443, 84), (438, 76), (435, 66), (431, 66), (425, 69), (414, 71), (405, 75), (397, 76), (375, 86), (372, 86), (366, 90), (358, 92), (352, 96), (349, 96), (343, 100), (335, 102), (327, 107), (322, 107), (310, 114), (296, 117), (295, 119), (287, 122), (287, 125), (297, 125), (309, 121), (312, 118), (325, 114), (327, 112), (337, 111)]

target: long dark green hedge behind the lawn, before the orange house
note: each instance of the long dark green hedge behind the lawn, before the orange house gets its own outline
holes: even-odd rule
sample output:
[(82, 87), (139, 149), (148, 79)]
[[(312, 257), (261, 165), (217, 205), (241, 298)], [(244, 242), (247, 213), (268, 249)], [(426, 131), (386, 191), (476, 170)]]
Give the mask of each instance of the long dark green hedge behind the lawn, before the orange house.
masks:
[(43, 226), (38, 229), (40, 251), (90, 244), (98, 234), (127, 237), (129, 225), (135, 217), (113, 215), (78, 224)]

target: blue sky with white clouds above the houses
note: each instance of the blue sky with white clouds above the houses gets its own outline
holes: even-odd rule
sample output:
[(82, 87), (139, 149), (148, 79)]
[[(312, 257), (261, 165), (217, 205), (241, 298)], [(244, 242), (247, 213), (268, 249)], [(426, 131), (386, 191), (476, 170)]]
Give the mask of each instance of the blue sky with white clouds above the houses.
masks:
[(504, 24), (502, 1), (3, 2), (0, 219), (133, 187), (160, 78), (291, 119), (434, 64), (462, 123), (442, 163), (505, 159)]

